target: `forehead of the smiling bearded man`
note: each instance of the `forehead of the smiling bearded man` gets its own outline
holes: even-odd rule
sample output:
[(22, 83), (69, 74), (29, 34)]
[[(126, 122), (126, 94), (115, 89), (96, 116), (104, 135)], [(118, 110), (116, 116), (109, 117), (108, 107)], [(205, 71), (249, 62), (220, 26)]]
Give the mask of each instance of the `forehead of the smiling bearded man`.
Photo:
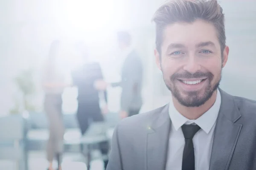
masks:
[(163, 31), (162, 48), (171, 43), (180, 43), (187, 47), (195, 47), (200, 42), (211, 41), (220, 48), (218, 34), (212, 23), (196, 20), (193, 23), (174, 23), (166, 26)]

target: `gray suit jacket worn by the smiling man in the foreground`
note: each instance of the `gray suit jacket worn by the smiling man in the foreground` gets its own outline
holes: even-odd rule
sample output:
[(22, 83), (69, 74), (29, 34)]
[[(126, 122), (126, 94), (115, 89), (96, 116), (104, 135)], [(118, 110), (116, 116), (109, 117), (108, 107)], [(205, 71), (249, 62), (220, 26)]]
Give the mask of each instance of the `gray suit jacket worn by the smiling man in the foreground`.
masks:
[[(168, 107), (125, 118), (116, 126), (107, 170), (165, 170)], [(256, 170), (256, 101), (221, 91), (209, 170)]]

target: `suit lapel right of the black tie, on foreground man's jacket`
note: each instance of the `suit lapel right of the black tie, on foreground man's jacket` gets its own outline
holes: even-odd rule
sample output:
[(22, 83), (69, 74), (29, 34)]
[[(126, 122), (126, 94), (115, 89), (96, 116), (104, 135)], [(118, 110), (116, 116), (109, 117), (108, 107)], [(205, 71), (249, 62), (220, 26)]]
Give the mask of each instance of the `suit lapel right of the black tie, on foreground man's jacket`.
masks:
[(241, 117), (233, 96), (221, 91), (221, 108), (215, 127), (210, 170), (228, 170), (242, 128)]

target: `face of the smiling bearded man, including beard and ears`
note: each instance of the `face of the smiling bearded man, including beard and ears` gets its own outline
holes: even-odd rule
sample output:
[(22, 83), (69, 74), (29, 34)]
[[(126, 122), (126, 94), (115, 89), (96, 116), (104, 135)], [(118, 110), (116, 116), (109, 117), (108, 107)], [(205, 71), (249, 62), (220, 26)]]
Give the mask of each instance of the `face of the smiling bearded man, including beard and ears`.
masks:
[(227, 62), (226, 46), (221, 60), (218, 34), (211, 23), (174, 23), (163, 31), (158, 68), (172, 95), (186, 107), (203, 105), (218, 88), (221, 69)]

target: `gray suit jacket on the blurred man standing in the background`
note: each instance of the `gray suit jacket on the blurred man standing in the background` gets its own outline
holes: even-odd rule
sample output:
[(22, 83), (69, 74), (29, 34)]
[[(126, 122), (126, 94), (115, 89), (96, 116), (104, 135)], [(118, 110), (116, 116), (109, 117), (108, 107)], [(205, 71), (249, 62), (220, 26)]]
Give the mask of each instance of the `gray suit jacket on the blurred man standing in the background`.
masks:
[(142, 79), (143, 66), (140, 57), (135, 51), (128, 54), (123, 63), (121, 82), (112, 83), (112, 87), (120, 86), (121, 94), (121, 110), (140, 110), (142, 105)]

